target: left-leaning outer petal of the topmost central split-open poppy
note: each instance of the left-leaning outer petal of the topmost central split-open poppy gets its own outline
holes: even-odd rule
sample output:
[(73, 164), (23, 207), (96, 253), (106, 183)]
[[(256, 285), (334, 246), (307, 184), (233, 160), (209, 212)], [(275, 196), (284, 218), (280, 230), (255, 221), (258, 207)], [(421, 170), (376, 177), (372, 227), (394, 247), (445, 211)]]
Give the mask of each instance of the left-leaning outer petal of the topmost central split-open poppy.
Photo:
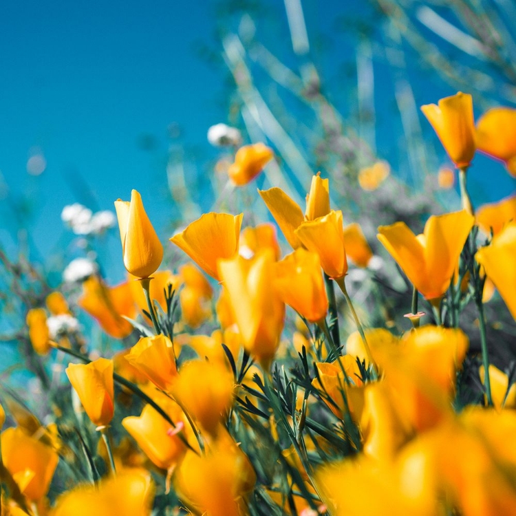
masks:
[(288, 195), (279, 188), (259, 190), (261, 198), (269, 208), (272, 217), (277, 222), (281, 232), (293, 249), (301, 246), (301, 241), (294, 234), (305, 219), (301, 208)]

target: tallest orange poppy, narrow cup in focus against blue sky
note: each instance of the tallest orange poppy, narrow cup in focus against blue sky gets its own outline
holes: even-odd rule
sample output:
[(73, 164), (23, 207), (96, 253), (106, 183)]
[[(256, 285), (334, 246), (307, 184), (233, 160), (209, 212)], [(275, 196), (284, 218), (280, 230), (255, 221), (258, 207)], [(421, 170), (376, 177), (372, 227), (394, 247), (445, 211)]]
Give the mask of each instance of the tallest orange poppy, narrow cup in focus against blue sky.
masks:
[(469, 166), (475, 154), (473, 97), (458, 92), (441, 98), (439, 104), (421, 106), (450, 159), (458, 169)]

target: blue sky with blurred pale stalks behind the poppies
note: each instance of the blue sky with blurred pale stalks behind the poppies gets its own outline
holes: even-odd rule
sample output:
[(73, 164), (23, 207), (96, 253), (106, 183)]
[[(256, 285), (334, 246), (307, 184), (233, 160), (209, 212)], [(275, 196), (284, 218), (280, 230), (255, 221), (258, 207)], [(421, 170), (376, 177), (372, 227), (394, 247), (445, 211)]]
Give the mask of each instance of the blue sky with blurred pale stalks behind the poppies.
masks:
[[(367, 210), (368, 237), (414, 214), (416, 230), (459, 206), (458, 186), (438, 184), (453, 166), (420, 105), (461, 90), (475, 118), (513, 106), (514, 19), (510, 0), (3, 1), (0, 248), (54, 285), (89, 250), (114, 283), (118, 229), (76, 235), (65, 206), (114, 211), (137, 189), (166, 241), (203, 211), (255, 202), (257, 186), (301, 202), (316, 171), (348, 217)], [(219, 122), (277, 154), (236, 200), (224, 175), (235, 149), (206, 137)], [(361, 190), (358, 172), (378, 161), (390, 182)], [(475, 157), (475, 206), (515, 186)]]

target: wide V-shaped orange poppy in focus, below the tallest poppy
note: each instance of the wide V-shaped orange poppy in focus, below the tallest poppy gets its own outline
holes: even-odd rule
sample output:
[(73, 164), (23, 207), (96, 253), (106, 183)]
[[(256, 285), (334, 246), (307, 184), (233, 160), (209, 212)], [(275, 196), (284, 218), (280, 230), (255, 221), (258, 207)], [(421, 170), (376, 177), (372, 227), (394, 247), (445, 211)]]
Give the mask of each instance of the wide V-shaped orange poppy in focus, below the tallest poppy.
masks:
[(432, 215), (422, 235), (405, 222), (378, 228), (378, 240), (426, 299), (440, 299), (450, 285), (475, 217), (466, 211)]

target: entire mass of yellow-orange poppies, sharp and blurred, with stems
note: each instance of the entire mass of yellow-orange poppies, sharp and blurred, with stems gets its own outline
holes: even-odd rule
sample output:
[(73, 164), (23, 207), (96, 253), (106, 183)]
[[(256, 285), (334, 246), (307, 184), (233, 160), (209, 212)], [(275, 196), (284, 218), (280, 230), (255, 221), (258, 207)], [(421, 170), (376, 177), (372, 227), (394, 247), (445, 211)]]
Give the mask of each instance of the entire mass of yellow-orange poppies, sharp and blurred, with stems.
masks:
[[(469, 348), (458, 327), (458, 305), (466, 291), (477, 301), (481, 326), (486, 278), (516, 318), (516, 222), (510, 222), (516, 200), (485, 206), (475, 215), (465, 177), (476, 149), (503, 160), (516, 175), (516, 114), (492, 109), (475, 129), (471, 96), (466, 94), (423, 106), (422, 111), (462, 173), (464, 209), (429, 217), (421, 235), (403, 222), (380, 226), (378, 239), (412, 283), (414, 300), (419, 292), (433, 306), (438, 325), (419, 326), (416, 302), (409, 314), (413, 328), (404, 335), (383, 328), (363, 330), (345, 277), (348, 261), (365, 268), (372, 250), (361, 227), (345, 226), (342, 211), (330, 207), (329, 181), (318, 174), (304, 212), (279, 188), (259, 191), (293, 249), (283, 259), (275, 226), (241, 230), (243, 214), (207, 213), (171, 238), (220, 283), (215, 305), (219, 328), (211, 336), (177, 333), (166, 325), (170, 292), (180, 292), (180, 327), (191, 330), (213, 317), (213, 288), (191, 263), (177, 275), (158, 271), (163, 246), (133, 190), (130, 202), (115, 203), (130, 279), (109, 287), (92, 276), (78, 304), (115, 338), (133, 332), (131, 320), (139, 310), (144, 324), (138, 342), (113, 359), (89, 361), (70, 349), (74, 346), (69, 342), (52, 341), (46, 310), (30, 310), (27, 317), (36, 352), (45, 354), (57, 346), (84, 362), (69, 364), (66, 374), (104, 438), (112, 475), (96, 486), (67, 491), (48, 508), (46, 495), (63, 444), (55, 429), (36, 425), (31, 431), (13, 413), (19, 427), (1, 434), (1, 476), (9, 492), (2, 499), (5, 513), (151, 514), (155, 488), (149, 471), (141, 465), (129, 467), (111, 450), (108, 429), (118, 406), (116, 381), (146, 401), (140, 416), (123, 418), (122, 427), (163, 472), (166, 492), (173, 487), (182, 506), (194, 514), (255, 514), (250, 500), (257, 499), (251, 494), (257, 485), (266, 506), (292, 515), (516, 514), (516, 455), (508, 444), (516, 433), (516, 412), (510, 410), (516, 407), (516, 390), (489, 363), (486, 342), (479, 378), (486, 407), (453, 405), (456, 378)], [(272, 151), (263, 144), (243, 147), (230, 167), (231, 180), (247, 184), (270, 159)], [(385, 164), (375, 166), (361, 173), (363, 189), (373, 189), (380, 175), (381, 180), (387, 177)], [(486, 237), (493, 235), (479, 249), (478, 227)], [(334, 283), (358, 330), (343, 347)], [(450, 327), (440, 321), (447, 295)], [(310, 330), (299, 357), (306, 365), (305, 381), (297, 376), (297, 387), (292, 386), (294, 376), (272, 367), (286, 305)], [(69, 313), (61, 294), (47, 299), (47, 309)], [(198, 358), (180, 359), (186, 345)], [(251, 365), (248, 356), (260, 367)], [(3, 411), (1, 419), (3, 424)], [(263, 437), (256, 426), (259, 420), (274, 440), (271, 447), (280, 447), (277, 461), (287, 471), (283, 483), (272, 482), (252, 449), (240, 446), (240, 426), (254, 440)], [(316, 450), (319, 457), (340, 460), (310, 461)]]

